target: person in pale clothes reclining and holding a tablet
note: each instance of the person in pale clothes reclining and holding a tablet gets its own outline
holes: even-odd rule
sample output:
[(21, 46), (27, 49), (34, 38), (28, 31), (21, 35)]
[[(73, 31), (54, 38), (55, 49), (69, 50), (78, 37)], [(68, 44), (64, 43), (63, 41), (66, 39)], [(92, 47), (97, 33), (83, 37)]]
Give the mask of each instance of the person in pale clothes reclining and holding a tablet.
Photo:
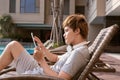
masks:
[[(65, 43), (68, 45), (67, 52), (58, 56), (47, 50), (38, 37), (34, 37), (37, 47), (34, 49), (33, 57), (17, 42), (10, 42), (0, 57), (0, 71), (12, 61), (19, 74), (42, 74), (72, 79), (78, 70), (83, 70), (89, 61), (87, 47), (88, 24), (83, 15), (73, 14), (63, 22)], [(45, 60), (56, 62), (49, 66)]]

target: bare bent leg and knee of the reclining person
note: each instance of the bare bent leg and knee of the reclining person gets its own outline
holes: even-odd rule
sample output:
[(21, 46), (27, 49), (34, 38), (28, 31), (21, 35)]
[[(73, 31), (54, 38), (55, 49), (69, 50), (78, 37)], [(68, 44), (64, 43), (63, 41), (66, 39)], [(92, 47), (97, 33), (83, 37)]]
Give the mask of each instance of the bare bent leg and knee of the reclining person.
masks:
[(0, 56), (0, 71), (7, 67), (14, 59), (16, 59), (24, 47), (17, 41), (10, 42)]

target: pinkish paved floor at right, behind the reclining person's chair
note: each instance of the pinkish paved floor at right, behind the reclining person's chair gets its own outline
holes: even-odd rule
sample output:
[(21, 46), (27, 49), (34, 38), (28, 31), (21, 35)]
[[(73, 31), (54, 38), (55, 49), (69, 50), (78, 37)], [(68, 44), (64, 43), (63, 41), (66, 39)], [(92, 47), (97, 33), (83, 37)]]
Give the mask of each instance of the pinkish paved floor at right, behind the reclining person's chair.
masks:
[(105, 63), (116, 69), (115, 72), (95, 72), (100, 80), (120, 80), (120, 53), (104, 53), (100, 57)]

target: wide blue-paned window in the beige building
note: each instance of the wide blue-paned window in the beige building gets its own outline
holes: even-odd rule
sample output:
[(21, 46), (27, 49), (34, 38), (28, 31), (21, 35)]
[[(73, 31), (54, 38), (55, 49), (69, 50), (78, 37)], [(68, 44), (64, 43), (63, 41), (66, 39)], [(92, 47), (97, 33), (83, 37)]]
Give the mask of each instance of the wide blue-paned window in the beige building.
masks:
[(20, 12), (21, 13), (39, 13), (40, 0), (21, 0)]

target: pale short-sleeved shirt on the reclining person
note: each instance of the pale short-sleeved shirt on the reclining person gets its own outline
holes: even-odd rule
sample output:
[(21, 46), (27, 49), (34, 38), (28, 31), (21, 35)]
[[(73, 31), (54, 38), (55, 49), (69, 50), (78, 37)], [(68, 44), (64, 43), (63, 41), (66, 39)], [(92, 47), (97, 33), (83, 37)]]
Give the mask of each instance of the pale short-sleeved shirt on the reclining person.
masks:
[(68, 52), (62, 55), (59, 61), (51, 68), (57, 73), (64, 71), (74, 76), (78, 70), (82, 72), (83, 67), (85, 67), (89, 61), (90, 55), (85, 43), (77, 44), (73, 46), (73, 49), (68, 48)]

